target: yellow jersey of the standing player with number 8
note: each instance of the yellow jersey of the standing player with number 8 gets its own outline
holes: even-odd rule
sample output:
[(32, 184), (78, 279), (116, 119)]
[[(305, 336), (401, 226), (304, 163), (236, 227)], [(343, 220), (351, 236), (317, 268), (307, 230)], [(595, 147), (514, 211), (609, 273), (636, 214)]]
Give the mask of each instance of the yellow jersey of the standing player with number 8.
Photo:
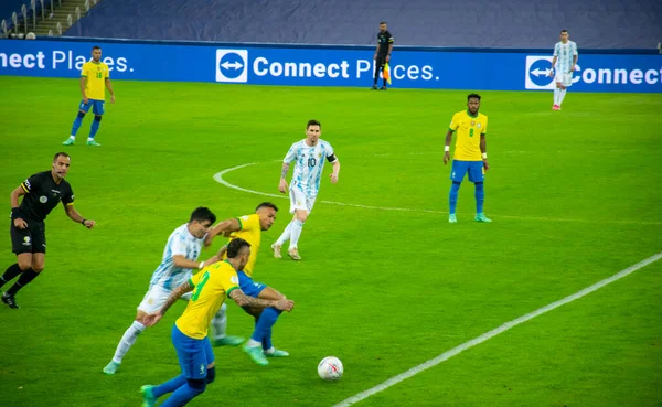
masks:
[(471, 116), (468, 110), (452, 116), (448, 128), (456, 131), (455, 160), (482, 161), (480, 136), (488, 132), (488, 117), (481, 113)]

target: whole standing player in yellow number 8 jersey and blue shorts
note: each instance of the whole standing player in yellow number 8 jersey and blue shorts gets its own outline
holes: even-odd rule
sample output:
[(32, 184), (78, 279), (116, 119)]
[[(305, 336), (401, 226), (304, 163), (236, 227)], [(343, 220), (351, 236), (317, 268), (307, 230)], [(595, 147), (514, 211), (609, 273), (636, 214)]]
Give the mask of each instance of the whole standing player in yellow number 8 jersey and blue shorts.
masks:
[(448, 222), (457, 223), (456, 205), (458, 203), (458, 192), (465, 174), (469, 173), (469, 181), (476, 185), (476, 221), (492, 222), (483, 213), (483, 202), (485, 200), (485, 190), (483, 182), (485, 171), (489, 170), (488, 144), (485, 135), (488, 132), (488, 117), (478, 113), (480, 108), (480, 95), (471, 94), (467, 96), (467, 110), (458, 111), (452, 116), (448, 132), (446, 133), (446, 147), (444, 148), (444, 164), (450, 161), (450, 142), (452, 133), (457, 132), (455, 154), (452, 157), (452, 169), (450, 172), (449, 204), (450, 211)]

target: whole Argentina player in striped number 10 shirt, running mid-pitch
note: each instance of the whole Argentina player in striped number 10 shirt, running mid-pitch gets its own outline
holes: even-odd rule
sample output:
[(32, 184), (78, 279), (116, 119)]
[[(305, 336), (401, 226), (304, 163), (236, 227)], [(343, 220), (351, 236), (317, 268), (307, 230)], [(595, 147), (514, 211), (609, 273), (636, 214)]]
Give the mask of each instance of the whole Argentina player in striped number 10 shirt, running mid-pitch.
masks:
[(329, 175), (331, 182), (338, 182), (340, 161), (338, 161), (333, 152), (333, 147), (320, 139), (321, 135), (322, 125), (317, 120), (309, 120), (306, 126), (306, 138), (295, 142), (282, 160), (282, 171), (280, 173), (278, 190), (284, 194), (288, 190), (286, 176), (290, 163), (296, 161), (295, 172), (289, 185), (290, 213), (295, 214), (295, 217), (287, 225), (278, 240), (271, 245), (274, 257), (276, 258), (280, 258), (280, 248), (287, 240), (290, 240), (287, 254), (292, 260), (301, 259), (298, 249), (299, 237), (320, 190), (324, 159), (333, 165), (333, 172)]

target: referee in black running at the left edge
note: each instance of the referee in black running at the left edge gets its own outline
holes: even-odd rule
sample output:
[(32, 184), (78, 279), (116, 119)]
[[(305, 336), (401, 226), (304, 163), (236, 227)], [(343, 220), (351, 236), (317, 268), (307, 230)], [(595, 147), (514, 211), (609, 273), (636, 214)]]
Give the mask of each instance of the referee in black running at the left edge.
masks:
[[(60, 202), (67, 216), (87, 227), (93, 228), (94, 221), (86, 219), (74, 208), (74, 192), (64, 176), (68, 172), (71, 158), (65, 152), (53, 157), (51, 171), (30, 176), (11, 192), (11, 247), (18, 261), (0, 277), (0, 287), (21, 275), (18, 281), (2, 294), (2, 302), (10, 308), (19, 308), (14, 296), (17, 291), (34, 280), (44, 269), (46, 254), (46, 235), (44, 219)], [(19, 206), (19, 196), (23, 201)]]

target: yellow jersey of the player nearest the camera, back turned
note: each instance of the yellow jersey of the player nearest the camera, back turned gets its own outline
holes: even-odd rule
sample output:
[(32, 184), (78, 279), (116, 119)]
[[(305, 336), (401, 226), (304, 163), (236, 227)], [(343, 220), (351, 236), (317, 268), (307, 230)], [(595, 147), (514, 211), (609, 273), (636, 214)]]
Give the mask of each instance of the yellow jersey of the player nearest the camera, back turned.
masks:
[(195, 288), (184, 313), (174, 323), (186, 336), (202, 340), (225, 298), (239, 288), (239, 278), (228, 261), (218, 261), (203, 268), (189, 282)]

